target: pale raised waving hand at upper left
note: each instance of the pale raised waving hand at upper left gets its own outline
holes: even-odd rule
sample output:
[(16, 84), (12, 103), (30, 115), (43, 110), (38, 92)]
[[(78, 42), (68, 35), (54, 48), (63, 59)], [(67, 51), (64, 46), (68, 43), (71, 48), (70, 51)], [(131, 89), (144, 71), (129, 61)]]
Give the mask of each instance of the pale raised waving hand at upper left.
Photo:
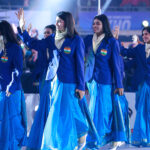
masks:
[(24, 19), (24, 10), (23, 8), (20, 8), (18, 12), (16, 12), (16, 16), (19, 20), (19, 27), (21, 28), (21, 31), (23, 32), (25, 30), (25, 19)]

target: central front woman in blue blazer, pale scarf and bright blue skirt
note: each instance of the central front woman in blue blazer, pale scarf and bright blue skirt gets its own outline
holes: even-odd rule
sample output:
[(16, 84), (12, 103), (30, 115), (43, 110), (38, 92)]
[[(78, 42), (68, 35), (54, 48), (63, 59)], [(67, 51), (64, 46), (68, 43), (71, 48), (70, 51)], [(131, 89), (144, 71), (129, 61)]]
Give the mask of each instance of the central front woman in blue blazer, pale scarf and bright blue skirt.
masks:
[(88, 132), (79, 105), (85, 93), (84, 42), (75, 30), (71, 13), (62, 11), (57, 14), (56, 35), (51, 39), (60, 59), (42, 149), (81, 150)]

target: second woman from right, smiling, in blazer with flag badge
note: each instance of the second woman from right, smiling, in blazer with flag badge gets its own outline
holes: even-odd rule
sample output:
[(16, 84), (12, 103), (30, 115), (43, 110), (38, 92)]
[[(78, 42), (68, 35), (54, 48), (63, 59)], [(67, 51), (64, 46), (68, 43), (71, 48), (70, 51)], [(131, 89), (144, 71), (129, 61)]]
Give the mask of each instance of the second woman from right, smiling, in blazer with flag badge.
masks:
[[(89, 109), (101, 146), (112, 141), (112, 94), (123, 95), (120, 65), (120, 47), (113, 38), (108, 19), (98, 15), (93, 20), (94, 35), (85, 38), (85, 80), (90, 93)], [(88, 136), (87, 146), (94, 147), (94, 138)]]

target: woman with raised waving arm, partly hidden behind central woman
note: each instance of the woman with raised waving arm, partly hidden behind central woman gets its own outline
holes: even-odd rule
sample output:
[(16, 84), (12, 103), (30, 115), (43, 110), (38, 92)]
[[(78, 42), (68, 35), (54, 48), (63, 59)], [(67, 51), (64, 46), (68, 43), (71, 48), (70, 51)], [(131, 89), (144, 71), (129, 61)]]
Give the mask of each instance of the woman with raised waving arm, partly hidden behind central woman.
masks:
[[(24, 20), (24, 11), (20, 9), (17, 13), (19, 22)], [(21, 23), (20, 23), (21, 24)], [(51, 105), (51, 81), (54, 75), (51, 74), (52, 78), (46, 77), (49, 62), (53, 57), (53, 45), (50, 39), (50, 28), (55, 26), (46, 26), (44, 31), (44, 38), (38, 40), (36, 38), (31, 38), (29, 33), (24, 29), (25, 23), (23, 23), (20, 28), (18, 27), (18, 35), (22, 41), (37, 55), (37, 60), (35, 62), (35, 69), (33, 70), (33, 80), (39, 80), (39, 95), (40, 103), (38, 110), (34, 117), (34, 122), (32, 124), (30, 134), (28, 137), (27, 147), (30, 149), (40, 149), (42, 143), (42, 136), (45, 127), (45, 123), (48, 117), (48, 113)], [(55, 33), (55, 28), (54, 28)], [(51, 36), (54, 37), (54, 33)], [(50, 43), (50, 44), (49, 44)], [(34, 49), (34, 50), (33, 50)], [(37, 52), (37, 53), (35, 53)], [(52, 67), (51, 67), (52, 68)]]

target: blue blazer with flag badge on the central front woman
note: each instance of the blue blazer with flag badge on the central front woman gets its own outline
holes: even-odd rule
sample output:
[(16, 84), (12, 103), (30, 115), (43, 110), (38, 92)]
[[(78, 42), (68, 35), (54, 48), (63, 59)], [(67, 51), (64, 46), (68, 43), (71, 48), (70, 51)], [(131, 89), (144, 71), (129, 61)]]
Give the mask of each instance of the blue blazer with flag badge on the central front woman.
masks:
[(64, 83), (76, 83), (77, 89), (85, 90), (84, 82), (84, 42), (75, 35), (66, 38), (60, 48), (58, 79)]

